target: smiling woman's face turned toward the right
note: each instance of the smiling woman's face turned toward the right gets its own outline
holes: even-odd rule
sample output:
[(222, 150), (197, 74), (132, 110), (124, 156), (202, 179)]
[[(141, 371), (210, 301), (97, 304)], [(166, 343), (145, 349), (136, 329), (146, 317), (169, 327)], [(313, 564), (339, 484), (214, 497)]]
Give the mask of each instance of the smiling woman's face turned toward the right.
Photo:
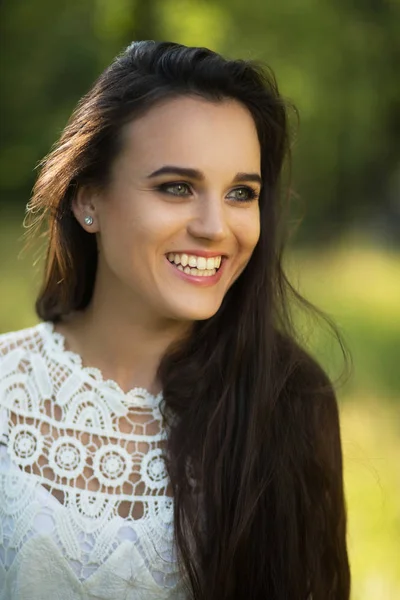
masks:
[(241, 104), (153, 107), (125, 127), (110, 184), (85, 212), (101, 288), (135, 314), (208, 319), (257, 244), (260, 187), (257, 132)]

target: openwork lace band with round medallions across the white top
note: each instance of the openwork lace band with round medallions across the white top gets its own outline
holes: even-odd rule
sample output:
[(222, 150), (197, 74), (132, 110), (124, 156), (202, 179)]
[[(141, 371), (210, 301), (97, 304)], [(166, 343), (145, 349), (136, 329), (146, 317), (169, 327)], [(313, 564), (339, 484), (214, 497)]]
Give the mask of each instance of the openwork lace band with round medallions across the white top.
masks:
[[(107, 497), (116, 515), (138, 520), (152, 502), (172, 498), (166, 440), (151, 411), (131, 410), (113, 423), (99, 419), (90, 406), (80, 420), (64, 422), (62, 416), (60, 407), (48, 403), (36, 418), (12, 411), (8, 417), (12, 462), (61, 505), (72, 496), (91, 497), (93, 503)], [(77, 421), (80, 426), (74, 426)]]

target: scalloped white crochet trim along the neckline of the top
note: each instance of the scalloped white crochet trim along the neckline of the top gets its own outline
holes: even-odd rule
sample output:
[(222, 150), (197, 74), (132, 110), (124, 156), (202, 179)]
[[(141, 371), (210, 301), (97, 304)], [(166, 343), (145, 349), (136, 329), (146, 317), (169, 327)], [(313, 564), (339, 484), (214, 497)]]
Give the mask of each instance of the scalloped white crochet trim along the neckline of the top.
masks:
[(46, 342), (51, 347), (51, 351), (57, 354), (58, 360), (63, 359), (69, 364), (71, 369), (78, 369), (83, 376), (88, 378), (92, 385), (95, 384), (97, 388), (113, 391), (114, 394), (117, 393), (121, 396), (124, 404), (127, 405), (159, 406), (163, 399), (162, 392), (154, 395), (147, 389), (141, 387), (133, 387), (128, 392), (124, 392), (116, 381), (113, 379), (105, 379), (100, 369), (97, 367), (85, 366), (83, 364), (83, 359), (79, 354), (72, 350), (68, 350), (65, 336), (54, 329), (54, 323), (52, 321), (45, 321), (42, 323), (42, 326), (46, 334)]

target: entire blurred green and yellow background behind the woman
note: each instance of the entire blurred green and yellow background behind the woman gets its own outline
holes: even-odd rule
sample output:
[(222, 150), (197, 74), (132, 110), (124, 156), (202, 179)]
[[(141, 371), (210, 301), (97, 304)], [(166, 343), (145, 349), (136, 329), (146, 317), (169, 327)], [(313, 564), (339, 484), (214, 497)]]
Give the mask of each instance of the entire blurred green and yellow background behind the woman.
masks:
[[(3, 0), (0, 332), (36, 323), (41, 271), (21, 254), (35, 166), (134, 39), (261, 59), (300, 112), (293, 283), (353, 355), (338, 389), (353, 600), (400, 598), (400, 3), (398, 0)], [(333, 378), (334, 340), (310, 345)]]

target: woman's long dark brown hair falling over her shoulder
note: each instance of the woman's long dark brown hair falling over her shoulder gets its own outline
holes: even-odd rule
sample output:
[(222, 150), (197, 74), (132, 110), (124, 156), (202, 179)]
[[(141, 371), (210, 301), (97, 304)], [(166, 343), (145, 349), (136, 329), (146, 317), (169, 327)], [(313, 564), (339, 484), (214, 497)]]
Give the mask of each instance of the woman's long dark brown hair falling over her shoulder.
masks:
[(347, 351), (334, 323), (283, 270), (288, 116), (269, 71), (169, 42), (136, 42), (117, 57), (43, 161), (28, 205), (33, 230), (46, 222), (50, 236), (37, 314), (56, 322), (89, 304), (96, 241), (72, 214), (73, 194), (107, 185), (125, 123), (182, 94), (248, 108), (263, 180), (261, 235), (249, 264), (218, 312), (194, 323), (159, 365), (182, 573), (196, 600), (347, 600), (337, 401), (299, 341), (291, 302), (325, 319), (345, 359)]

